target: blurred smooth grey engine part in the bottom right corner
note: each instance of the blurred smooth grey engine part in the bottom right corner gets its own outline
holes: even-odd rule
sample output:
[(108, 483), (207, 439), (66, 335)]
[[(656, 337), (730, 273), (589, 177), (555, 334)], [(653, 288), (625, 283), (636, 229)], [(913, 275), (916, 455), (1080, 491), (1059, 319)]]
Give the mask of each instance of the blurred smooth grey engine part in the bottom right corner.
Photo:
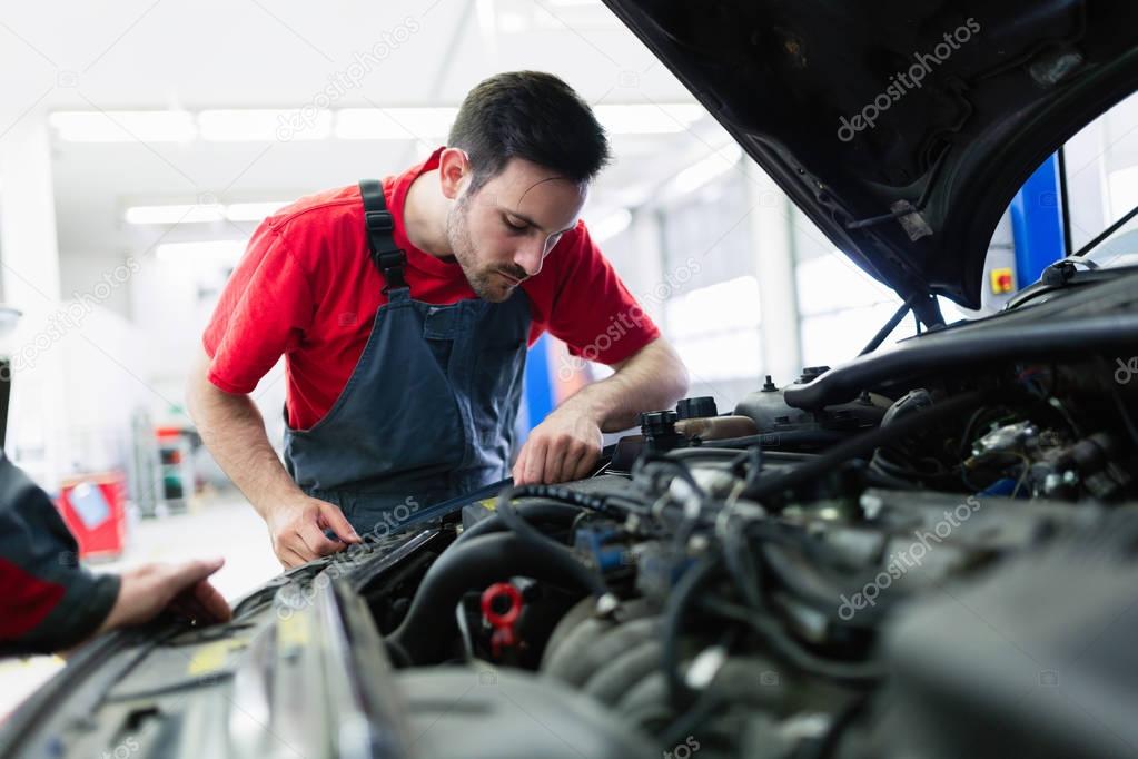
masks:
[(1119, 599), (1138, 585), (1136, 541), (1120, 513), (915, 604), (887, 630), (891, 684), (859, 756), (1133, 756), (1138, 612)]

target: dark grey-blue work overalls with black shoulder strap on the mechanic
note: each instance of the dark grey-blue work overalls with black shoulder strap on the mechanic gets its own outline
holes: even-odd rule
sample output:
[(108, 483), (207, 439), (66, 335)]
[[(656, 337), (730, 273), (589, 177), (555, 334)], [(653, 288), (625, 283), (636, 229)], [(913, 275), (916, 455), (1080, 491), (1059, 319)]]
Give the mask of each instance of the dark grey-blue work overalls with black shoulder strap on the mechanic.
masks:
[(307, 430), (286, 423), (284, 463), (363, 535), (509, 476), (530, 314), (520, 289), (503, 303), (414, 300), (382, 185), (360, 190), (388, 302), (328, 414)]

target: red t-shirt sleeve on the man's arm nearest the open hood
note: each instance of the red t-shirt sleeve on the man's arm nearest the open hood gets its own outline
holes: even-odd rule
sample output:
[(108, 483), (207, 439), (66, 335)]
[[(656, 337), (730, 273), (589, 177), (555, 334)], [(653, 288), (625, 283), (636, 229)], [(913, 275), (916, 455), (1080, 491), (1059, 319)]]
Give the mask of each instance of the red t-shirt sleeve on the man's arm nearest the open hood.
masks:
[[(549, 314), (549, 331), (563, 340), (569, 353), (602, 364), (628, 358), (660, 330), (601, 254), (579, 223), (556, 250), (556, 292)], [(568, 237), (568, 236), (567, 236)]]

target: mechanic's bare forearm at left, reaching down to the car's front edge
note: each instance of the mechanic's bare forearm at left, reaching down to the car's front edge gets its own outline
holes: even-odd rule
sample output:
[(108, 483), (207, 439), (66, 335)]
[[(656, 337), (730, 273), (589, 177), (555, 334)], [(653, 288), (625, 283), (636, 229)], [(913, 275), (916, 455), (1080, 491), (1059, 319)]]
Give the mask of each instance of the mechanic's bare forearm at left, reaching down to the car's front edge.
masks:
[(206, 378), (203, 354), (191, 377), (190, 415), (209, 453), (263, 518), (273, 504), (295, 498), (300, 489), (269, 443), (265, 422), (246, 395), (224, 393)]

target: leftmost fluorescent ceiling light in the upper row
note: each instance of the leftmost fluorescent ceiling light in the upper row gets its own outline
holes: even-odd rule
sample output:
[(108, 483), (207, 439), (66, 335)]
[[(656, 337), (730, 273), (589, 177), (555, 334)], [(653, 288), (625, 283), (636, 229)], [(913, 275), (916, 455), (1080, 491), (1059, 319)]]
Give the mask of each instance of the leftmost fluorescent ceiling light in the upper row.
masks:
[(68, 142), (185, 142), (197, 135), (185, 110), (60, 110), (48, 121)]

